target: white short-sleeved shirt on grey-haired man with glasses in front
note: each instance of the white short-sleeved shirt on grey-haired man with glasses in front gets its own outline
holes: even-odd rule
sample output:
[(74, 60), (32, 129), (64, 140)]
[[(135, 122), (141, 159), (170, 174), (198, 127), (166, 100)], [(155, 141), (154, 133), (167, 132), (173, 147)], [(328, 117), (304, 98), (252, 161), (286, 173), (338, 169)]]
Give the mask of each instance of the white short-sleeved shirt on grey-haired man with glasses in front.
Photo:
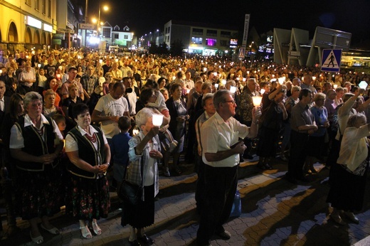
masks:
[(228, 156), (221, 161), (207, 161), (205, 153), (217, 153), (231, 149), (230, 146), (236, 144), (239, 138), (247, 137), (249, 127), (240, 124), (233, 117), (226, 122), (216, 112), (211, 118), (203, 123), (201, 127), (201, 145), (203, 148), (203, 162), (213, 167), (233, 167), (239, 163), (239, 154)]

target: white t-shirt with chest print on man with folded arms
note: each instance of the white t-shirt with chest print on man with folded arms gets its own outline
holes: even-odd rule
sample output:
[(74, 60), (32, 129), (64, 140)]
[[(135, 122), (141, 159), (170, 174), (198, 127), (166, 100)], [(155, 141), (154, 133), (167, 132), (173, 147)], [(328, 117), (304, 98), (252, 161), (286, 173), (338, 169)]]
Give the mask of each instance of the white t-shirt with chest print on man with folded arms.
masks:
[[(125, 97), (114, 99), (110, 94), (100, 97), (95, 106), (95, 110), (101, 112), (101, 116), (118, 116), (121, 117), (125, 112), (129, 112), (129, 106)], [(118, 123), (111, 120), (100, 122), (102, 132), (107, 139), (111, 139), (116, 134), (120, 133)]]

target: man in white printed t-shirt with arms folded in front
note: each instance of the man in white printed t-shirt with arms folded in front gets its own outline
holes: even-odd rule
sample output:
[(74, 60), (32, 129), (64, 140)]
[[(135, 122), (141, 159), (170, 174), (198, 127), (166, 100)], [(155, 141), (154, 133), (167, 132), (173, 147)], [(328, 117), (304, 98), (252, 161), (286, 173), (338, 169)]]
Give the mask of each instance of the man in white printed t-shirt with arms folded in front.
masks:
[(100, 127), (108, 142), (112, 140), (113, 136), (120, 133), (118, 119), (124, 115), (129, 117), (129, 106), (123, 97), (124, 94), (125, 85), (122, 82), (115, 82), (112, 91), (97, 101), (91, 116), (92, 122), (100, 122)]

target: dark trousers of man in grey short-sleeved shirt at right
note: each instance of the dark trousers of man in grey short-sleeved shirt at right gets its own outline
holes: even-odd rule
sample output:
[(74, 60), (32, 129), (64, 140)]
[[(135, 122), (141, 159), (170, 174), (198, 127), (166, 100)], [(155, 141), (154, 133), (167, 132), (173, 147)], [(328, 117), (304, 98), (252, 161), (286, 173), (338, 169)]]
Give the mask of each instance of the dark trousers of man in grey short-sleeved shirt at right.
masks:
[(290, 133), (290, 159), (287, 164), (287, 176), (301, 178), (303, 166), (307, 157), (307, 144), (309, 135), (293, 131)]

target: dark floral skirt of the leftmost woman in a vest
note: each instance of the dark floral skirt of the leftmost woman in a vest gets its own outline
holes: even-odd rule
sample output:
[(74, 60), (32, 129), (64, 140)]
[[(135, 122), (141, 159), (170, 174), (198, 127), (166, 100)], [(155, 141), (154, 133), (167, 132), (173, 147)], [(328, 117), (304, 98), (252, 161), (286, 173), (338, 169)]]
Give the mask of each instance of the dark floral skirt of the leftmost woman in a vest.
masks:
[(61, 171), (46, 165), (44, 171), (17, 170), (16, 200), (23, 220), (53, 216), (63, 203)]

